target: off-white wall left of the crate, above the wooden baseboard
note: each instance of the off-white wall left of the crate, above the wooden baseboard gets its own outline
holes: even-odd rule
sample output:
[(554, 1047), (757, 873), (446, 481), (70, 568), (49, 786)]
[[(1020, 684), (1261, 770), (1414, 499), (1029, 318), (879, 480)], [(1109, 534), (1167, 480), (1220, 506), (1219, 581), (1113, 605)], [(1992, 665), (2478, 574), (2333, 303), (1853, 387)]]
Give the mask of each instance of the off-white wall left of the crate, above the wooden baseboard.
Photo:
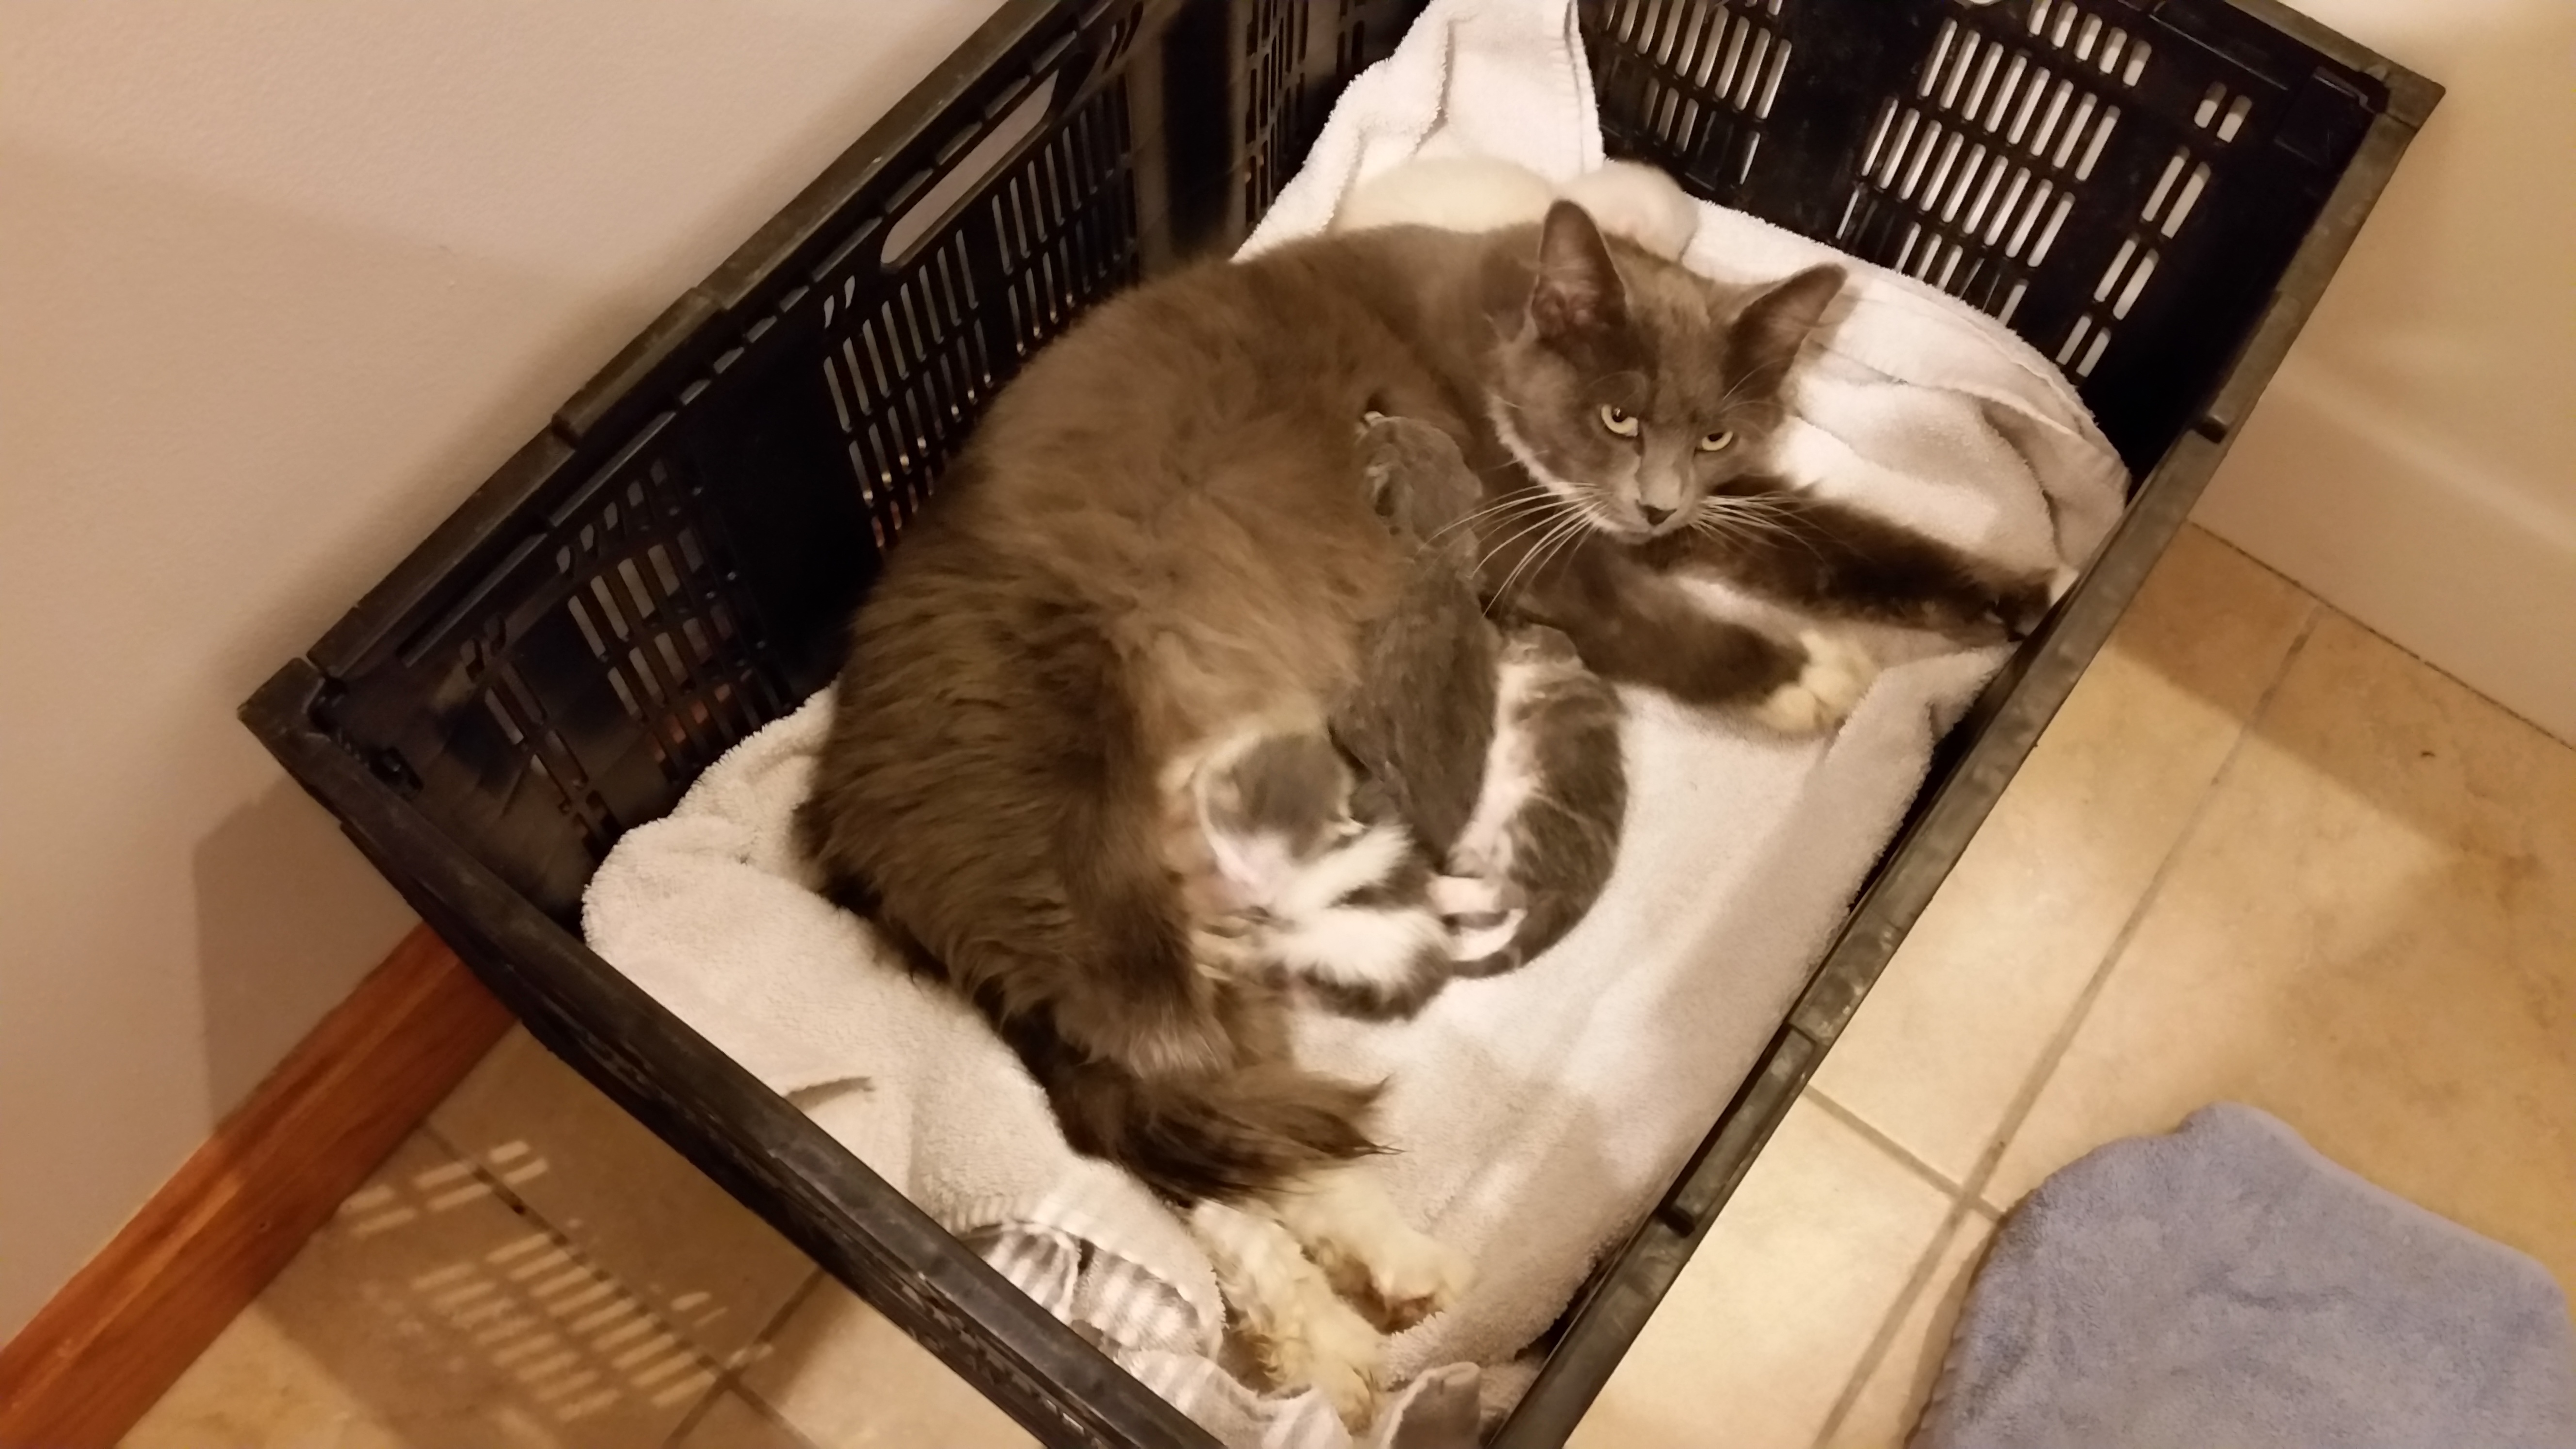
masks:
[(234, 704), (992, 8), (0, 3), (0, 1338), (410, 926)]

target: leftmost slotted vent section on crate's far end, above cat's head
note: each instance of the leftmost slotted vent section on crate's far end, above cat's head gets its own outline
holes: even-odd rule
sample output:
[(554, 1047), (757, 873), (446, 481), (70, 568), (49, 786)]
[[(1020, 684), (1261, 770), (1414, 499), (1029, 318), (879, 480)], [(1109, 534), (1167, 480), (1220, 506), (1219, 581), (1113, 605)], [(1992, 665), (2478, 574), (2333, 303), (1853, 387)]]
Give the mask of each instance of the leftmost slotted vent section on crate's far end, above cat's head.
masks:
[(1618, 0), (1602, 83), (1610, 129), (1680, 160), (1710, 186), (1741, 186), (1780, 98), (1790, 41), (1783, 0)]

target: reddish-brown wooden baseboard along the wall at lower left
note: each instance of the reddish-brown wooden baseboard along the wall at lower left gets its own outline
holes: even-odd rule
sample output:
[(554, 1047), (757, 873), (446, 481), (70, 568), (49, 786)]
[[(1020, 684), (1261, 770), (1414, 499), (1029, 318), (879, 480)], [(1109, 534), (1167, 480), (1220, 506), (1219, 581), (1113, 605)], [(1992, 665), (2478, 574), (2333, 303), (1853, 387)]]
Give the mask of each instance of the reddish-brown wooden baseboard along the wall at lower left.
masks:
[(0, 1449), (111, 1449), (507, 1026), (404, 936), (0, 1348)]

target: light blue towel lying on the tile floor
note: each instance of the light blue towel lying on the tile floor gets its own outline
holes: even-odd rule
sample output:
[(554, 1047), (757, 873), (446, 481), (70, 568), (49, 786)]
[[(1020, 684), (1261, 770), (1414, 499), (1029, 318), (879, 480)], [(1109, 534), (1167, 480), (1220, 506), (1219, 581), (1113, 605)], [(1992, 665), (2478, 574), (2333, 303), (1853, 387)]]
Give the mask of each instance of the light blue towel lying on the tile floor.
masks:
[(1911, 1444), (2576, 1449), (2576, 1328), (2532, 1258), (2221, 1104), (2014, 1209)]

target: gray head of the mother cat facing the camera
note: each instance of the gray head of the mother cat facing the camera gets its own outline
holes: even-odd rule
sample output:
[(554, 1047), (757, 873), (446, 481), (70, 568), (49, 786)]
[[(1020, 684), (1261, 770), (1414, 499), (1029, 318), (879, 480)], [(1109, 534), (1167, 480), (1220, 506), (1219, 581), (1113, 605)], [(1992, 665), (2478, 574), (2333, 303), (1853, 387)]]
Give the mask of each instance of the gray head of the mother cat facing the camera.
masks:
[(1790, 366), (1842, 284), (1839, 266), (1811, 266), (1772, 286), (1721, 286), (1613, 248), (1558, 201), (1497, 358), (1494, 425), (1595, 529), (1682, 531), (1710, 492), (1772, 467)]

